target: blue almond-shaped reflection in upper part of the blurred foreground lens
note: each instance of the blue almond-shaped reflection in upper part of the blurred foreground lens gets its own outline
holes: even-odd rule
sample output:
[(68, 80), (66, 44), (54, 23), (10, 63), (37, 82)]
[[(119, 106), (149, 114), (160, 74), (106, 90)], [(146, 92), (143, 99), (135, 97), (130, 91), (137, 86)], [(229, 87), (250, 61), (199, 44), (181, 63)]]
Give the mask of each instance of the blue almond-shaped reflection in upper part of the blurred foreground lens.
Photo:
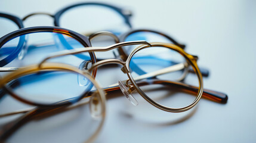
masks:
[(40, 71), (14, 79), (8, 86), (18, 97), (39, 104), (54, 104), (68, 99), (76, 102), (93, 86), (87, 77), (84, 77), (87, 85), (79, 85), (77, 76), (67, 71)]

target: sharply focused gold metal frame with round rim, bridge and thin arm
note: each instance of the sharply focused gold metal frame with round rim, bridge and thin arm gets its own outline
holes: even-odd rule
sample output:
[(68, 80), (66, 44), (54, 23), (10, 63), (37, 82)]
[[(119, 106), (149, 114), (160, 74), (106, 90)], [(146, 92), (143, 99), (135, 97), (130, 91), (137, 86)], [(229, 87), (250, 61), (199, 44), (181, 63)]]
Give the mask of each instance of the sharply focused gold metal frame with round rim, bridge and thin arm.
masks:
[[(107, 46), (107, 47), (91, 47), (91, 48), (77, 48), (77, 49), (65, 50), (65, 51), (60, 51), (60, 52), (53, 53), (53, 55), (51, 55), (51, 56), (45, 58), (44, 60), (42, 60), (41, 63), (38, 64), (38, 66), (40, 68), (42, 65), (44, 65), (45, 61), (47, 61), (51, 58), (61, 57), (61, 56), (64, 56), (64, 55), (74, 55), (74, 54), (79, 54), (79, 53), (82, 53), (82, 52), (109, 51), (111, 49), (118, 48), (118, 47), (121, 47), (121, 46), (138, 45), (138, 44), (140, 44), (140, 46), (135, 48), (131, 52), (131, 54), (129, 54), (126, 61), (121, 61), (121, 60), (117, 60), (117, 59), (101, 60), (101, 61), (98, 61), (98, 62), (92, 64), (92, 66), (90, 67), (90, 69), (87, 70), (87, 72), (90, 73), (90, 71), (95, 70), (97, 67), (103, 66), (105, 64), (120, 64), (122, 66), (122, 71), (127, 74), (128, 80), (132, 84), (132, 85), (126, 85), (126, 86), (129, 87), (129, 92), (132, 92), (132, 91), (136, 90), (146, 101), (148, 101), (150, 104), (152, 104), (155, 107), (157, 107), (161, 110), (164, 110), (164, 111), (183, 112), (183, 111), (189, 110), (190, 108), (193, 108), (198, 103), (198, 101), (201, 99), (202, 93), (203, 93), (202, 75), (201, 75), (201, 72), (199, 71), (198, 65), (196, 64), (196, 60), (198, 60), (198, 57), (187, 54), (183, 49), (181, 49), (180, 47), (178, 47), (174, 44), (171, 44), (171, 43), (160, 43), (160, 42), (159, 43), (158, 42), (156, 42), (156, 43), (147, 43), (146, 41), (131, 41), (131, 42), (116, 43), (112, 46)], [(141, 45), (141, 44), (143, 44), (143, 45)], [(148, 48), (148, 47), (151, 47), (151, 46), (162, 46), (162, 47), (169, 48), (169, 49), (172, 49), (174, 51), (177, 51), (178, 53), (183, 55), (183, 57), (186, 58), (187, 63), (190, 64), (190, 66), (192, 66), (193, 69), (196, 71), (196, 75), (198, 76), (198, 80), (199, 80), (199, 87), (198, 87), (197, 97), (196, 97), (195, 101), (192, 102), (192, 104), (187, 105), (186, 107), (181, 107), (181, 108), (166, 107), (164, 105), (158, 104), (157, 102), (155, 102), (152, 99), (150, 99), (149, 97), (147, 97), (147, 95), (144, 94), (144, 92), (141, 91), (139, 86), (135, 83), (135, 80), (131, 76), (131, 71), (128, 68), (129, 67), (129, 61), (131, 61), (132, 56), (136, 52), (140, 51), (141, 49)], [(186, 67), (184, 66), (184, 68), (186, 68)]]

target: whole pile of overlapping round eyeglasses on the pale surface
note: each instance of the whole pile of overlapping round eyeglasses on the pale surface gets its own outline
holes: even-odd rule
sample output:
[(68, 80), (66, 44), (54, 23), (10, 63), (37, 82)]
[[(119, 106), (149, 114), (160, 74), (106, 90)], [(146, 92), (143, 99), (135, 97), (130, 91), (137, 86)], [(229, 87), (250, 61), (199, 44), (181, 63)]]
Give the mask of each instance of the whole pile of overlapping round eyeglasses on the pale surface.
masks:
[[(92, 142), (104, 123), (106, 97), (118, 90), (133, 105), (140, 104), (137, 97), (141, 96), (156, 108), (174, 113), (190, 110), (201, 97), (223, 104), (227, 102), (226, 94), (203, 89), (202, 76), (208, 76), (208, 70), (198, 67), (198, 57), (187, 54), (185, 45), (164, 33), (147, 29), (121, 32), (118, 29), (104, 29), (104, 26), (100, 29), (105, 30), (103, 32), (97, 32), (98, 29), (87, 32), (79, 30), (80, 26), (76, 26), (76, 23), (88, 27), (85, 26), (88, 23), (86, 18), (85, 22), (79, 21), (79, 14), (83, 15), (82, 10), (94, 7), (115, 13), (126, 27), (132, 27), (130, 11), (94, 2), (70, 5), (55, 15), (29, 14), (22, 20), (0, 13), (0, 23), (12, 23), (19, 29), (1, 33), (4, 36), (0, 38), (0, 100), (12, 97), (29, 105), (29, 108), (10, 112), (2, 108), (1, 118), (19, 116), (2, 124), (1, 142), (17, 142), (10, 140), (10, 136), (31, 120), (63, 116), (61, 114), (82, 106), (82, 113), (87, 113), (84, 119), (87, 120), (84, 125), (87, 133), (84, 133), (83, 141)], [(55, 27), (24, 28), (23, 21), (36, 14), (53, 17)], [(70, 18), (77, 21), (70, 27), (65, 26), (64, 23)], [(72, 26), (79, 33), (73, 31)], [(125, 80), (119, 79), (112, 85), (101, 87), (95, 81), (97, 70), (100, 67), (111, 68), (113, 64), (119, 65), (127, 75)], [(193, 74), (191, 83), (185, 79), (189, 73)], [(0, 107), (5, 106), (1, 104)], [(10, 102), (7, 104), (10, 105)], [(62, 127), (70, 123), (68, 120), (62, 122), (58, 129), (54, 128), (55, 132), (65, 130)], [(91, 128), (94, 124), (96, 128)], [(63, 132), (61, 136), (69, 136), (69, 132)], [(37, 139), (44, 142), (42, 136)], [(51, 139), (55, 142), (67, 141), (65, 137), (54, 140), (52, 136)]]

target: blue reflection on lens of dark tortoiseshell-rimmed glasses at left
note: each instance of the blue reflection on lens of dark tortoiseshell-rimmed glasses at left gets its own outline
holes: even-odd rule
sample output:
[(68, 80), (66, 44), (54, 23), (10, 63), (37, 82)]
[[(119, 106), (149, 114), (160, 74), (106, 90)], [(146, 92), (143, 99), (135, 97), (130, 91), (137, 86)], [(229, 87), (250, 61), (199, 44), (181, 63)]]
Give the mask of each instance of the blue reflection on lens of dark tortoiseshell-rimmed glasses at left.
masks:
[[(3, 60), (0, 64), (1, 66), (8, 64), (8, 67), (22, 67), (39, 63), (52, 52), (82, 47), (84, 46), (79, 41), (61, 33), (28, 33), (4, 43), (0, 48), (0, 60)], [(87, 52), (55, 58), (54, 60), (78, 66), (84, 60), (91, 60), (91, 57)]]

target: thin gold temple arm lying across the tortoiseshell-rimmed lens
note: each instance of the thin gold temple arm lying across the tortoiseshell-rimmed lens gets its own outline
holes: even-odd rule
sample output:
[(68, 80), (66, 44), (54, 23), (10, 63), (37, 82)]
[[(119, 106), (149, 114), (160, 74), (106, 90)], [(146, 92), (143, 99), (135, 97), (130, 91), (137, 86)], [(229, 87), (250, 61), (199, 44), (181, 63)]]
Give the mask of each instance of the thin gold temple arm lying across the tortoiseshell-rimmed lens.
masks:
[(61, 56), (64, 56), (64, 55), (75, 55), (75, 54), (80, 54), (82, 52), (109, 51), (111, 49), (115, 49), (115, 48), (118, 48), (120, 46), (140, 45), (140, 44), (150, 45), (150, 43), (148, 43), (146, 41), (129, 41), (129, 42), (116, 43), (116, 44), (113, 44), (111, 46), (106, 46), (106, 47), (88, 47), (88, 48), (77, 48), (77, 49), (64, 50), (64, 51), (53, 53), (51, 56), (42, 60), (41, 63), (38, 64), (38, 66), (41, 67), (42, 64), (45, 61), (47, 61), (51, 58), (57, 58), (57, 57), (61, 57)]

